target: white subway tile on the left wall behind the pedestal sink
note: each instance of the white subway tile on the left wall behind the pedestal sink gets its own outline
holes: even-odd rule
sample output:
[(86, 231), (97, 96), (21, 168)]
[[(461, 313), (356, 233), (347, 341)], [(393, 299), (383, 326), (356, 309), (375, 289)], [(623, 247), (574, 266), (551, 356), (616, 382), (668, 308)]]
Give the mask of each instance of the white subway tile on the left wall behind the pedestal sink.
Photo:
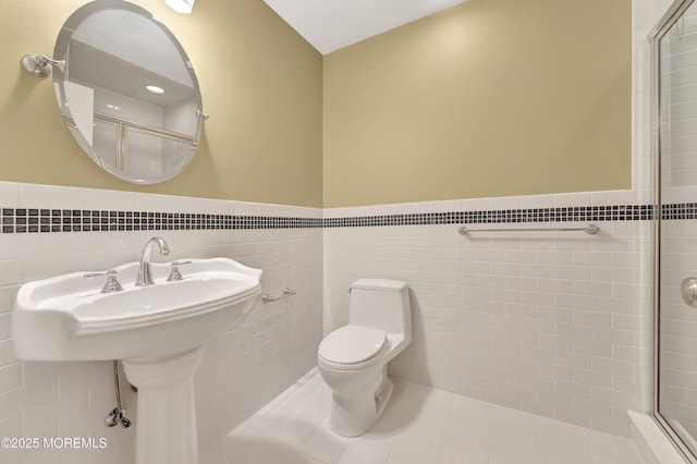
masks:
[[(321, 218), (321, 210), (98, 190), (0, 183), (3, 208), (113, 209)], [(21, 363), (11, 340), (19, 286), (77, 270), (103, 270), (139, 259), (162, 236), (167, 260), (225, 256), (264, 270), (267, 292), (293, 297), (257, 303), (245, 323), (206, 345), (195, 376), (198, 439), (207, 447), (315, 366), (322, 325), (322, 233), (319, 228), (157, 230), (0, 234), (0, 436), (107, 438), (103, 450), (1, 450), (2, 463), (132, 462), (135, 428), (107, 428), (114, 407), (110, 362)], [(155, 255), (154, 255), (155, 256)], [(154, 257), (154, 259), (160, 259)], [(122, 376), (122, 400), (135, 420), (136, 394)], [(176, 407), (176, 405), (172, 405)], [(137, 424), (136, 424), (137, 427)]]

